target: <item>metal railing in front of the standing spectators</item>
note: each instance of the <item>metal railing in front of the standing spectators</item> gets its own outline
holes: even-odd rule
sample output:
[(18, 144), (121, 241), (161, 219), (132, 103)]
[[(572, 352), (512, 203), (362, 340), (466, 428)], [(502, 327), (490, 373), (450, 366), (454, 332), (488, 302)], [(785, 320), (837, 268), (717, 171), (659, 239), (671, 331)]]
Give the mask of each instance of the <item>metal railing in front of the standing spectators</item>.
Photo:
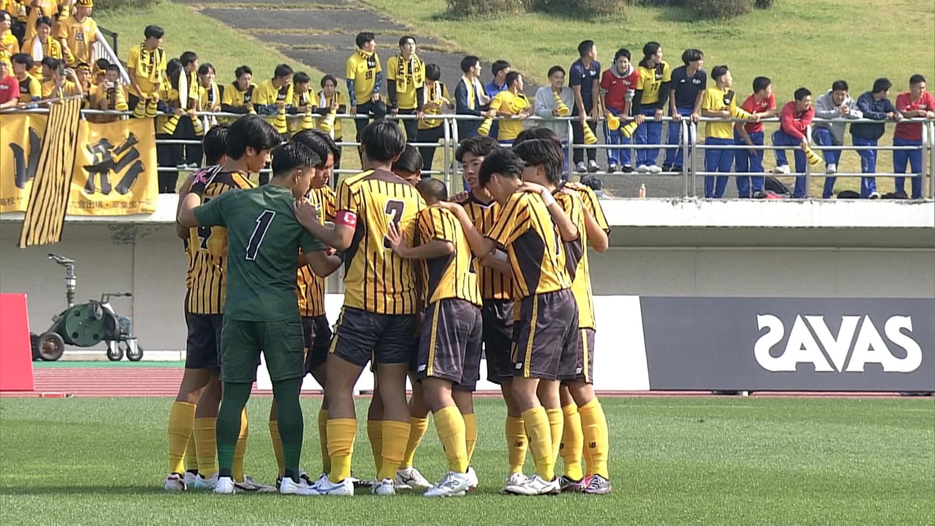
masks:
[[(11, 112), (21, 112), (21, 113), (48, 113), (46, 109), (35, 109), (35, 110), (3, 110), (0, 113), (11, 113)], [(83, 114), (86, 115), (110, 115), (121, 118), (130, 118), (132, 112), (130, 111), (114, 111), (114, 110), (82, 110)], [(215, 118), (234, 118), (243, 116), (239, 113), (224, 113), (224, 112), (197, 112), (196, 115), (199, 117), (215, 117)], [(169, 114), (161, 113), (160, 116), (170, 116)], [(275, 115), (262, 115), (264, 117), (275, 117)], [(288, 121), (297, 121), (303, 119), (304, 115), (286, 115)], [(322, 117), (317, 116), (316, 119), (321, 119)], [(393, 121), (399, 120), (413, 120), (416, 119), (414, 115), (396, 115), (395, 117), (387, 117)], [(456, 161), (454, 160), (454, 150), (457, 148), (460, 138), (458, 137), (458, 129), (456, 123), (458, 121), (483, 121), (484, 117), (473, 116), (473, 115), (454, 115), (454, 114), (439, 114), (439, 115), (426, 115), (426, 119), (431, 119), (434, 121), (441, 121), (441, 126), (444, 127), (444, 135), (442, 139), (439, 139), (438, 143), (426, 143), (426, 142), (410, 142), (413, 146), (417, 147), (436, 147), (442, 149), (442, 158), (443, 164), (440, 170), (425, 170), (423, 173), (429, 175), (440, 175), (444, 178), (445, 183), (452, 186), (453, 178), (456, 176), (460, 179), (461, 172), (457, 166)], [(361, 120), (368, 119), (364, 115), (350, 115), (350, 114), (340, 114), (337, 115), (337, 119), (344, 121), (350, 120)], [(698, 177), (751, 177), (751, 176), (766, 176), (766, 175), (778, 175), (780, 177), (805, 177), (805, 198), (811, 197), (811, 185), (813, 177), (885, 177), (885, 178), (894, 178), (894, 177), (905, 177), (907, 179), (912, 179), (915, 177), (921, 177), (923, 183), (925, 184), (926, 179), (928, 179), (928, 191), (923, 188), (923, 196), (928, 196), (930, 199), (935, 199), (935, 183), (932, 183), (930, 174), (932, 168), (935, 167), (935, 148), (933, 148), (933, 143), (935, 143), (935, 119), (903, 119), (900, 123), (904, 124), (922, 124), (923, 133), (922, 133), (922, 145), (921, 146), (890, 146), (890, 145), (878, 145), (878, 146), (854, 146), (854, 145), (842, 145), (842, 146), (817, 146), (812, 143), (812, 126), (808, 127), (808, 130), (805, 134), (807, 143), (810, 145), (810, 148), (817, 152), (827, 152), (827, 151), (845, 151), (845, 150), (876, 150), (876, 151), (921, 151), (922, 152), (922, 169), (918, 173), (895, 173), (887, 171), (878, 171), (874, 173), (858, 173), (858, 172), (836, 172), (834, 174), (813, 173), (812, 166), (806, 163), (804, 172), (791, 172), (788, 174), (776, 174), (771, 172), (709, 172), (703, 169), (699, 169), (698, 164), (703, 163), (704, 152), (706, 150), (758, 150), (763, 151), (775, 151), (775, 150), (784, 150), (784, 151), (796, 151), (801, 150), (800, 146), (774, 146), (772, 144), (763, 144), (763, 145), (738, 145), (738, 144), (726, 144), (726, 145), (714, 145), (714, 144), (705, 144), (698, 139), (698, 124), (701, 123), (744, 123), (748, 124), (749, 121), (742, 119), (714, 119), (708, 117), (701, 117), (696, 124), (693, 120), (688, 117), (683, 117), (680, 120), (680, 130), (681, 137), (677, 144), (669, 144), (668, 138), (666, 142), (663, 142), (660, 138), (661, 144), (635, 144), (634, 137), (630, 138), (629, 144), (609, 144), (606, 142), (606, 137), (604, 137), (605, 142), (598, 142), (596, 144), (581, 144), (575, 143), (573, 140), (573, 127), (572, 123), (577, 120), (577, 117), (539, 117), (539, 116), (529, 116), (524, 119), (524, 123), (529, 124), (539, 124), (540, 122), (565, 122), (567, 123), (567, 136), (564, 138), (564, 141), (567, 142), (565, 146), (568, 153), (568, 158), (573, 157), (575, 150), (659, 150), (662, 152), (672, 150), (672, 149), (681, 149), (683, 154), (683, 166), (679, 171), (663, 171), (659, 173), (637, 173), (633, 172), (635, 175), (639, 175), (640, 178), (653, 178), (653, 177), (672, 177), (672, 176), (682, 176), (683, 177), (683, 196), (684, 197), (698, 197), (697, 188), (698, 188)], [(496, 121), (507, 120), (504, 118), (496, 118)], [(621, 126), (624, 126), (628, 122), (632, 122), (633, 118), (629, 117), (626, 120), (621, 119)], [(605, 122), (604, 118), (601, 118), (600, 122), (593, 123), (588, 121), (589, 125), (592, 127), (595, 135), (604, 135), (603, 123)], [(663, 117), (661, 121), (654, 121), (653, 119), (647, 119), (647, 123), (655, 122), (660, 125), (673, 122), (673, 119), (669, 116)], [(762, 124), (779, 124), (778, 118), (762, 119), (759, 121)], [(846, 123), (846, 124), (885, 124), (887, 127), (893, 124), (897, 124), (895, 121), (875, 121), (871, 119), (814, 119), (813, 123)], [(526, 125), (526, 127), (529, 127)], [(666, 126), (668, 128), (668, 126)], [(207, 126), (206, 126), (207, 129)], [(345, 132), (350, 134), (356, 133), (355, 127), (348, 127), (345, 125)], [(345, 133), (345, 135), (348, 135)], [(687, 140), (686, 140), (687, 139)], [(198, 139), (156, 139), (158, 144), (200, 144)], [(352, 140), (341, 140), (338, 142), (340, 147), (352, 147), (356, 149), (359, 146), (359, 142)], [(160, 167), (159, 171), (180, 171), (180, 168), (175, 167)], [(336, 173), (356, 173), (358, 170), (341, 168), (335, 170)], [(608, 173), (606, 171), (597, 171), (593, 172), (590, 175), (604, 175), (610, 177), (627, 177), (627, 173)], [(929, 176), (927, 178), (927, 175)]]

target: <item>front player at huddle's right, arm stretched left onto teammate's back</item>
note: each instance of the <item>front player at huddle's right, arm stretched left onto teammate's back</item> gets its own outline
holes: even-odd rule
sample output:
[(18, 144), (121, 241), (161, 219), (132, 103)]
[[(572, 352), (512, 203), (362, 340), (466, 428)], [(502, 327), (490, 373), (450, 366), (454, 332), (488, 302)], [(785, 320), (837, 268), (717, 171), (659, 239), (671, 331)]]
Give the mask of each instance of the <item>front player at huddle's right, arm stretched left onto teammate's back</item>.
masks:
[[(536, 475), (517, 480), (504, 490), (541, 495), (560, 490), (554, 476), (562, 434), (558, 380), (563, 372), (559, 364), (563, 351), (571, 348), (576, 337), (578, 309), (569, 290), (565, 248), (552, 218), (561, 217), (566, 224), (570, 220), (548, 190), (534, 194), (522, 188), (524, 169), (523, 159), (509, 150), (496, 150), (483, 160), (480, 183), (501, 207), (486, 236), (474, 227), (464, 207), (454, 203), (441, 206), (455, 212), (475, 256), (491, 256), (497, 245), (505, 247), (509, 255), (513, 292), (521, 301), (512, 339), (512, 397), (522, 412)], [(554, 425), (548, 409), (558, 411)]]

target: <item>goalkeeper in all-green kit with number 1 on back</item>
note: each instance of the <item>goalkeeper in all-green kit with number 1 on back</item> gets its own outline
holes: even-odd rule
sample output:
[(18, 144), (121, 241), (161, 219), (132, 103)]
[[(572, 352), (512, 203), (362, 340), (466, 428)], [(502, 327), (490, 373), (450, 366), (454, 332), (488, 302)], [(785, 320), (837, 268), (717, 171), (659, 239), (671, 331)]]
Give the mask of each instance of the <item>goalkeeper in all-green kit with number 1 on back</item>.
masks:
[(303, 432), (298, 395), (305, 374), (305, 344), (295, 302), (295, 258), (301, 248), (312, 270), (324, 274), (324, 269), (339, 263), (295, 219), (295, 199), (309, 191), (313, 167), (320, 163), (307, 146), (286, 143), (273, 155), (269, 184), (228, 192), (196, 208), (190, 207), (192, 201), (186, 197), (182, 205), (183, 226), (221, 225), (228, 232), (228, 296), (221, 341), (223, 398), (217, 431), (220, 476), (215, 493), (235, 491), (231, 464), (237, 420), (250, 398), (262, 350), (279, 406), (285, 459), (280, 492), (315, 494), (298, 476)]

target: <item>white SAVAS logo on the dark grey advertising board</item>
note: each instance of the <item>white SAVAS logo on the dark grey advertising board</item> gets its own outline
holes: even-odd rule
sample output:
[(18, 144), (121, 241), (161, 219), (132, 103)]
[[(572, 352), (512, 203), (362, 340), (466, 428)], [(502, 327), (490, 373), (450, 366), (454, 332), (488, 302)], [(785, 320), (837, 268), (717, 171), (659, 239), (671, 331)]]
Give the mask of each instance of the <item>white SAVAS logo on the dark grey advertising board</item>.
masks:
[(899, 347), (898, 354), (904, 358), (893, 354), (894, 347), (887, 345), (869, 315), (841, 316), (841, 329), (835, 337), (825, 316), (798, 314), (779, 356), (771, 355), (770, 349), (785, 337), (783, 320), (773, 314), (757, 314), (756, 322), (767, 332), (754, 344), (754, 356), (767, 371), (791, 372), (799, 363), (812, 363), (815, 373), (863, 373), (866, 364), (879, 363), (885, 373), (912, 373), (922, 364), (922, 348), (910, 336), (911, 316), (891, 316), (884, 324), (886, 340)]

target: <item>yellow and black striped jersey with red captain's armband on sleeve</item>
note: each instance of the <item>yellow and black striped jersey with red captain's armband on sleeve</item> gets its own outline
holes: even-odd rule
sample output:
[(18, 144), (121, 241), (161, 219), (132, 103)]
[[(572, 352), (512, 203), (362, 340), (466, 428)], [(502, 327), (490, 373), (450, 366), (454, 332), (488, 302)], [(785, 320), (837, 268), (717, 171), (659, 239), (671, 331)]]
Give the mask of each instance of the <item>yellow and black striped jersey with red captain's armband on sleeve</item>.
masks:
[(351, 246), (344, 252), (344, 306), (376, 314), (415, 314), (418, 261), (396, 256), (386, 229), (396, 223), (414, 239), (425, 201), (415, 187), (386, 170), (367, 170), (338, 187), (338, 214), (356, 218)]

